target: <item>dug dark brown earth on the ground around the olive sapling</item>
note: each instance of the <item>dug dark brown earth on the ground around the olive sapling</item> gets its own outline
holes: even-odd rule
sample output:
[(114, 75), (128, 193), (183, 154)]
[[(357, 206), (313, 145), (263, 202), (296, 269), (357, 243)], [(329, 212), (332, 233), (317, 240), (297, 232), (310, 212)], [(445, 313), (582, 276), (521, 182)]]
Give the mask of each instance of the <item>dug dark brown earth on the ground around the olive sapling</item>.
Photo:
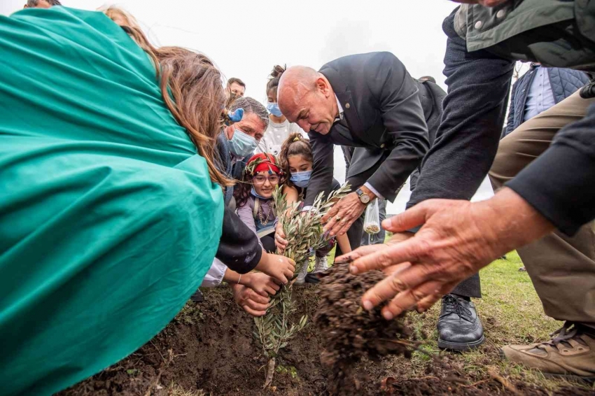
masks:
[[(315, 291), (312, 286), (294, 288), (296, 320), (302, 313), (309, 318), (314, 316), (318, 302)], [(328, 379), (332, 372), (321, 364), (323, 346), (330, 344), (323, 341), (314, 325), (310, 323), (290, 341), (277, 359), (274, 387), (262, 390), (266, 359), (253, 338), (253, 320), (236, 306), (228, 288), (207, 290), (204, 297), (202, 304), (188, 304), (165, 330), (137, 352), (58, 395), (169, 396), (175, 394), (171, 388), (174, 385), (215, 396), (330, 395)], [(391, 332), (395, 330), (390, 328)], [(384, 330), (379, 334), (385, 337)], [(370, 334), (365, 337), (369, 339)], [(383, 354), (372, 353), (374, 349), (381, 351), (383, 345), (389, 348), (388, 344), (370, 342), (376, 346), (360, 346), (356, 352), (362, 358), (356, 370), (366, 379), (353, 395), (550, 395), (522, 383), (507, 383), (497, 374), (465, 377), (461, 363), (450, 360), (448, 355), (428, 362), (423, 378), (407, 379), (411, 369), (403, 358), (368, 360)], [(489, 358), (498, 359), (497, 351), (489, 351)], [(554, 395), (591, 394), (582, 388), (566, 388)]]

